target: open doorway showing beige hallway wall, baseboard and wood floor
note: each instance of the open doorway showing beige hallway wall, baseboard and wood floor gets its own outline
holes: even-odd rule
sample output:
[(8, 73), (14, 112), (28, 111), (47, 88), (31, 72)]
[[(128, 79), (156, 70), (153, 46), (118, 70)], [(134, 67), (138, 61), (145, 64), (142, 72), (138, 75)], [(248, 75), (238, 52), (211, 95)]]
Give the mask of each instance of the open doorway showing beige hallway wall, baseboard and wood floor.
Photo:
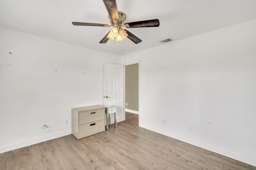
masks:
[(125, 120), (139, 125), (139, 63), (125, 66)]

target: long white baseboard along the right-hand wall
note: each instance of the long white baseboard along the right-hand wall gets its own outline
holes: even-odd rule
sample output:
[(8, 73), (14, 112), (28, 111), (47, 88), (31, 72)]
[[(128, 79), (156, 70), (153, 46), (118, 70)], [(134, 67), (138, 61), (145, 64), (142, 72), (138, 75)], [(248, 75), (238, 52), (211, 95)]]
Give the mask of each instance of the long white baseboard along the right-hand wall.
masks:
[(140, 124), (139, 126), (143, 127), (143, 128), (146, 128), (148, 130), (152, 130), (154, 132), (157, 132), (157, 133), (169, 136), (171, 138), (175, 138), (175, 139), (180, 140), (182, 142), (186, 142), (186, 143), (192, 144), (194, 146), (198, 146), (200, 148), (203, 148), (203, 149), (206, 149), (206, 150), (210, 150), (210, 151), (215, 152), (217, 154), (221, 154), (223, 156), (227, 156), (227, 157), (232, 158), (234, 160), (238, 160), (240, 162), (244, 162), (246, 164), (250, 164), (252, 166), (256, 166), (256, 158), (245, 156), (245, 155), (242, 155), (242, 154), (238, 154), (238, 153), (232, 152), (230, 150), (219, 148), (219, 147), (216, 147), (216, 146), (213, 146), (213, 145), (210, 145), (210, 144), (198, 141), (198, 140), (194, 140), (194, 139), (188, 138), (186, 136), (182, 136), (180, 134), (175, 134), (173, 132), (162, 130), (162, 129), (159, 129), (159, 128), (156, 128), (156, 127), (152, 127), (152, 126), (149, 126), (149, 125), (146, 125), (146, 124)]

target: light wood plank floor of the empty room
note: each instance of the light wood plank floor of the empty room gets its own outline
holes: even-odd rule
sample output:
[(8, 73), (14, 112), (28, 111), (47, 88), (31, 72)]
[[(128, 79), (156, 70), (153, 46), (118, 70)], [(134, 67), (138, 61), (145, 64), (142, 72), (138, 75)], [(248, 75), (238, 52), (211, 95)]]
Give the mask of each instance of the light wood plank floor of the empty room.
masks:
[(0, 154), (1, 170), (256, 170), (124, 121), (77, 140), (67, 135)]

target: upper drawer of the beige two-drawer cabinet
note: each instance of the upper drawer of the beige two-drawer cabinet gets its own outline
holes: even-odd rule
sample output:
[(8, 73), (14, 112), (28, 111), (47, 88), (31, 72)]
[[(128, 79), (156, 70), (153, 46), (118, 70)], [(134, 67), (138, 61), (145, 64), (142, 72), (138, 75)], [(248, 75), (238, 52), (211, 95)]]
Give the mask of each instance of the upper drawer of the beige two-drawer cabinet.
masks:
[(104, 109), (79, 113), (79, 125), (105, 119)]

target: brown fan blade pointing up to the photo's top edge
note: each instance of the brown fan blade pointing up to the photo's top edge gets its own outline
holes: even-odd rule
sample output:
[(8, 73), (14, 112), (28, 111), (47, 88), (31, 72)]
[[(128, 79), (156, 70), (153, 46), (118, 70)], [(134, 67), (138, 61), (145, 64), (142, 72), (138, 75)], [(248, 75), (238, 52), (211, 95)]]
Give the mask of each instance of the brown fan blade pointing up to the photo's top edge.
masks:
[(116, 0), (103, 0), (103, 2), (108, 10), (108, 14), (109, 14), (112, 22), (118, 23), (119, 18), (118, 18)]

